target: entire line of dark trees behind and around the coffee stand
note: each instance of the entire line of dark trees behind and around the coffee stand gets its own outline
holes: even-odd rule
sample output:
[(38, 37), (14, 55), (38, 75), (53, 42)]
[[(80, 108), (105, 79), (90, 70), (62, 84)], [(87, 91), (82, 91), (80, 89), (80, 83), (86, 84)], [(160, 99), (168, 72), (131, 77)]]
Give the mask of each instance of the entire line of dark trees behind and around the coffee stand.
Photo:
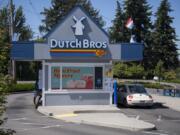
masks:
[[(95, 9), (90, 0), (52, 0), (50, 8), (44, 8), (41, 14), (44, 16), (39, 30), (47, 33), (58, 23), (67, 13), (76, 5), (81, 5), (89, 12), (92, 18), (101, 27), (105, 25), (99, 11)], [(155, 74), (153, 70), (159, 62), (162, 62), (162, 68), (166, 71), (172, 71), (178, 68), (177, 36), (172, 27), (173, 17), (169, 13), (173, 11), (168, 0), (162, 0), (156, 13), (155, 21), (152, 22), (152, 7), (147, 0), (124, 0), (122, 6), (117, 1), (115, 18), (112, 20), (112, 27), (108, 33), (111, 43), (129, 42), (131, 35), (135, 35), (136, 41), (143, 43), (144, 56), (141, 62), (114, 63), (114, 70), (117, 71), (119, 64), (125, 64), (128, 71), (131, 66), (143, 68), (144, 76), (151, 77)], [(9, 12), (4, 7), (0, 10), (0, 72), (7, 74), (9, 65)], [(19, 41), (28, 41), (33, 37), (33, 31), (26, 24), (26, 18), (23, 8), (17, 9), (13, 5), (13, 29), (18, 33)], [(125, 27), (128, 18), (132, 18), (134, 27), (130, 30)], [(39, 39), (37, 39), (39, 41)], [(128, 53), (128, 52), (127, 52)], [(33, 62), (17, 62), (17, 78), (20, 80), (31, 80), (36, 78)], [(26, 70), (24, 70), (26, 69)], [(31, 74), (29, 74), (31, 72)], [(116, 74), (117, 77), (121, 77)]]

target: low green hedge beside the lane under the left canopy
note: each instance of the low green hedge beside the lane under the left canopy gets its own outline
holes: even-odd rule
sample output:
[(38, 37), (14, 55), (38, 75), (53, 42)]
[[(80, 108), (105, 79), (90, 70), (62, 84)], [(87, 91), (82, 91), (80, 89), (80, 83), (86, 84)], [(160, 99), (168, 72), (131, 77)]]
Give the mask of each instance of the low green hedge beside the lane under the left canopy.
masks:
[(10, 92), (33, 91), (34, 89), (35, 89), (34, 83), (20, 83), (20, 84), (14, 84)]

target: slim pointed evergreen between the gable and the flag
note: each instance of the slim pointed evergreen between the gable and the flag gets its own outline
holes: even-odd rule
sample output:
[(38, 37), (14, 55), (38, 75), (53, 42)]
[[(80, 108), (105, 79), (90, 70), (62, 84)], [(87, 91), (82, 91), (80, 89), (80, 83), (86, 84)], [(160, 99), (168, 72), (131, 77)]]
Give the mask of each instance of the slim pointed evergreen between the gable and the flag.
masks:
[(125, 31), (127, 31), (125, 28), (125, 18), (119, 1), (117, 1), (116, 15), (112, 23), (113, 26), (109, 29), (110, 42), (118, 43), (127, 41), (128, 38), (125, 36)]

